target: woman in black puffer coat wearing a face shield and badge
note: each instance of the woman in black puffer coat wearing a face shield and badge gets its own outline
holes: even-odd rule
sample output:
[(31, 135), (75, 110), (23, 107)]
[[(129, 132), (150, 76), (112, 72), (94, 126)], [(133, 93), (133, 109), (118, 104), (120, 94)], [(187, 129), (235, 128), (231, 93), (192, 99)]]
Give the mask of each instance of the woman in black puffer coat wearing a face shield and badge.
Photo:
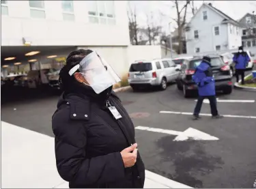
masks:
[(91, 69), (81, 72), (93, 53), (74, 50), (59, 73), (63, 94), (52, 119), (57, 170), (70, 188), (143, 188), (145, 168), (132, 120), (112, 86), (98, 93), (98, 75), (90, 85)]

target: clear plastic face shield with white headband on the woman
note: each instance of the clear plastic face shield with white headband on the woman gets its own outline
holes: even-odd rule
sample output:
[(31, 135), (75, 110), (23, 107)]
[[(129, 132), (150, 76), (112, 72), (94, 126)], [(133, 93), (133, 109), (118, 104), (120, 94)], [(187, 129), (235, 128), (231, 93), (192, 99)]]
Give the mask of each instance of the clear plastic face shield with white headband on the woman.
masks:
[(79, 65), (74, 66), (69, 72), (70, 76), (78, 69), (87, 81), (85, 84), (94, 89), (96, 93), (101, 93), (121, 81), (109, 63), (96, 52), (90, 53), (83, 58)]

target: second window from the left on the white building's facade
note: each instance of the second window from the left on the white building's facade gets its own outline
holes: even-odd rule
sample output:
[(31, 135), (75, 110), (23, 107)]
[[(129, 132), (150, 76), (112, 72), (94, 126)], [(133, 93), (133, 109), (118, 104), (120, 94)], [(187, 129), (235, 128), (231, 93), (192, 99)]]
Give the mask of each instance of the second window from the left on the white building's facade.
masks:
[(44, 1), (29, 1), (30, 16), (32, 18), (45, 18)]

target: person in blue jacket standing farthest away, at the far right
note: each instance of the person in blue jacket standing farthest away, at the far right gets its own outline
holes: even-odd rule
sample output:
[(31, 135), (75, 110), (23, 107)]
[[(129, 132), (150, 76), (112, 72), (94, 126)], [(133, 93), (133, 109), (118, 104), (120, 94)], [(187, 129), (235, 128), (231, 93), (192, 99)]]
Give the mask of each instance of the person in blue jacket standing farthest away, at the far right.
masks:
[(244, 52), (242, 46), (238, 48), (238, 53), (233, 56), (233, 62), (236, 63), (236, 82), (239, 82), (239, 75), (242, 78), (242, 85), (244, 85), (244, 72), (246, 70), (246, 66), (248, 66), (248, 62), (250, 58), (248, 57), (247, 53)]

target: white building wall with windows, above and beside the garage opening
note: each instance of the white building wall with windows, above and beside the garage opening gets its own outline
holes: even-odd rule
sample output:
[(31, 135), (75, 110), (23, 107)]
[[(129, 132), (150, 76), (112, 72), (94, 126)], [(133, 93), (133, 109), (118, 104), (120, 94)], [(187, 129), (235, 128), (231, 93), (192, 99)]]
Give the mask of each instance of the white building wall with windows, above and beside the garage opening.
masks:
[[(97, 50), (122, 74), (130, 45), (127, 1), (1, 1), (2, 48), (26, 43), (39, 51), (42, 46)], [(24, 58), (15, 61), (26, 63)]]

